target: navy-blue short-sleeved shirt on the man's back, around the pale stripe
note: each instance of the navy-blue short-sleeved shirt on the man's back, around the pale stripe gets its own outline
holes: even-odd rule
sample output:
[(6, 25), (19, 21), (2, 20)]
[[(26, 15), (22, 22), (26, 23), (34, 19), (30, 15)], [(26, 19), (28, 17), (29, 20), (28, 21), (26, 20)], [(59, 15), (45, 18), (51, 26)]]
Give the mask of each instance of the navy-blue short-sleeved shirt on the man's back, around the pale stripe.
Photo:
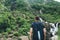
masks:
[(31, 27), (33, 28), (33, 40), (39, 40), (38, 31), (40, 32), (41, 40), (43, 40), (44, 39), (43, 24), (41, 22), (33, 22)]

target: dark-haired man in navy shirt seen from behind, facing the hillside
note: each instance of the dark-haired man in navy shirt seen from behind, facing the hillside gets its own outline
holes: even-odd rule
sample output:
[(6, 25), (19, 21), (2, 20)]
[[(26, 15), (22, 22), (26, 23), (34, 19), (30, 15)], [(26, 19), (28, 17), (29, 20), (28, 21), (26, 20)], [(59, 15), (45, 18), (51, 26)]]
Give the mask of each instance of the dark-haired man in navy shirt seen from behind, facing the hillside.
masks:
[(46, 28), (40, 22), (39, 17), (35, 17), (35, 22), (30, 28), (30, 40), (46, 40)]

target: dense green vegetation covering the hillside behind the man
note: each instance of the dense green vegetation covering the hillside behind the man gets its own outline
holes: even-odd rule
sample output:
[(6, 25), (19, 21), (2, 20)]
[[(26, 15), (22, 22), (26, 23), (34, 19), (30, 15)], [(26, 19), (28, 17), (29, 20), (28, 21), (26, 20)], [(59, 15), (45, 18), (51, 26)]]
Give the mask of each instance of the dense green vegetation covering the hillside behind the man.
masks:
[(0, 0), (0, 33), (15, 36), (27, 35), (33, 18), (37, 15), (48, 22), (60, 22), (59, 2), (32, 1)]

